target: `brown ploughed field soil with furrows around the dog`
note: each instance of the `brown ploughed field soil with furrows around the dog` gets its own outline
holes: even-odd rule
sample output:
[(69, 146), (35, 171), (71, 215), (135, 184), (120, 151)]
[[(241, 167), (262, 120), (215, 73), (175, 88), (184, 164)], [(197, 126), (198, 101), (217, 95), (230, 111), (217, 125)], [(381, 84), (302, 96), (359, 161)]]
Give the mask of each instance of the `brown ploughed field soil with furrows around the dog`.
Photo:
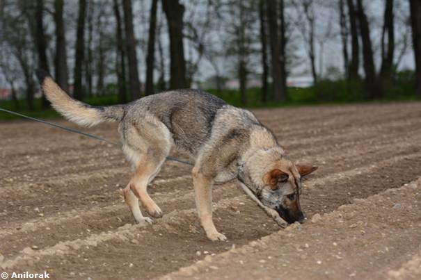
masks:
[[(0, 267), (47, 270), (53, 279), (406, 279), (416, 273), (420, 190), (413, 184), (386, 190), (421, 174), (421, 104), (255, 114), (290, 158), (319, 166), (301, 198), (310, 218), (280, 230), (237, 183), (226, 183), (214, 189), (214, 219), (228, 242), (210, 242), (200, 229), (188, 166), (166, 163), (150, 186), (164, 217), (141, 228), (122, 201), (130, 170), (119, 147), (42, 124), (0, 123)], [(118, 140), (115, 124), (85, 130)], [(310, 222), (315, 214), (322, 218)]]

